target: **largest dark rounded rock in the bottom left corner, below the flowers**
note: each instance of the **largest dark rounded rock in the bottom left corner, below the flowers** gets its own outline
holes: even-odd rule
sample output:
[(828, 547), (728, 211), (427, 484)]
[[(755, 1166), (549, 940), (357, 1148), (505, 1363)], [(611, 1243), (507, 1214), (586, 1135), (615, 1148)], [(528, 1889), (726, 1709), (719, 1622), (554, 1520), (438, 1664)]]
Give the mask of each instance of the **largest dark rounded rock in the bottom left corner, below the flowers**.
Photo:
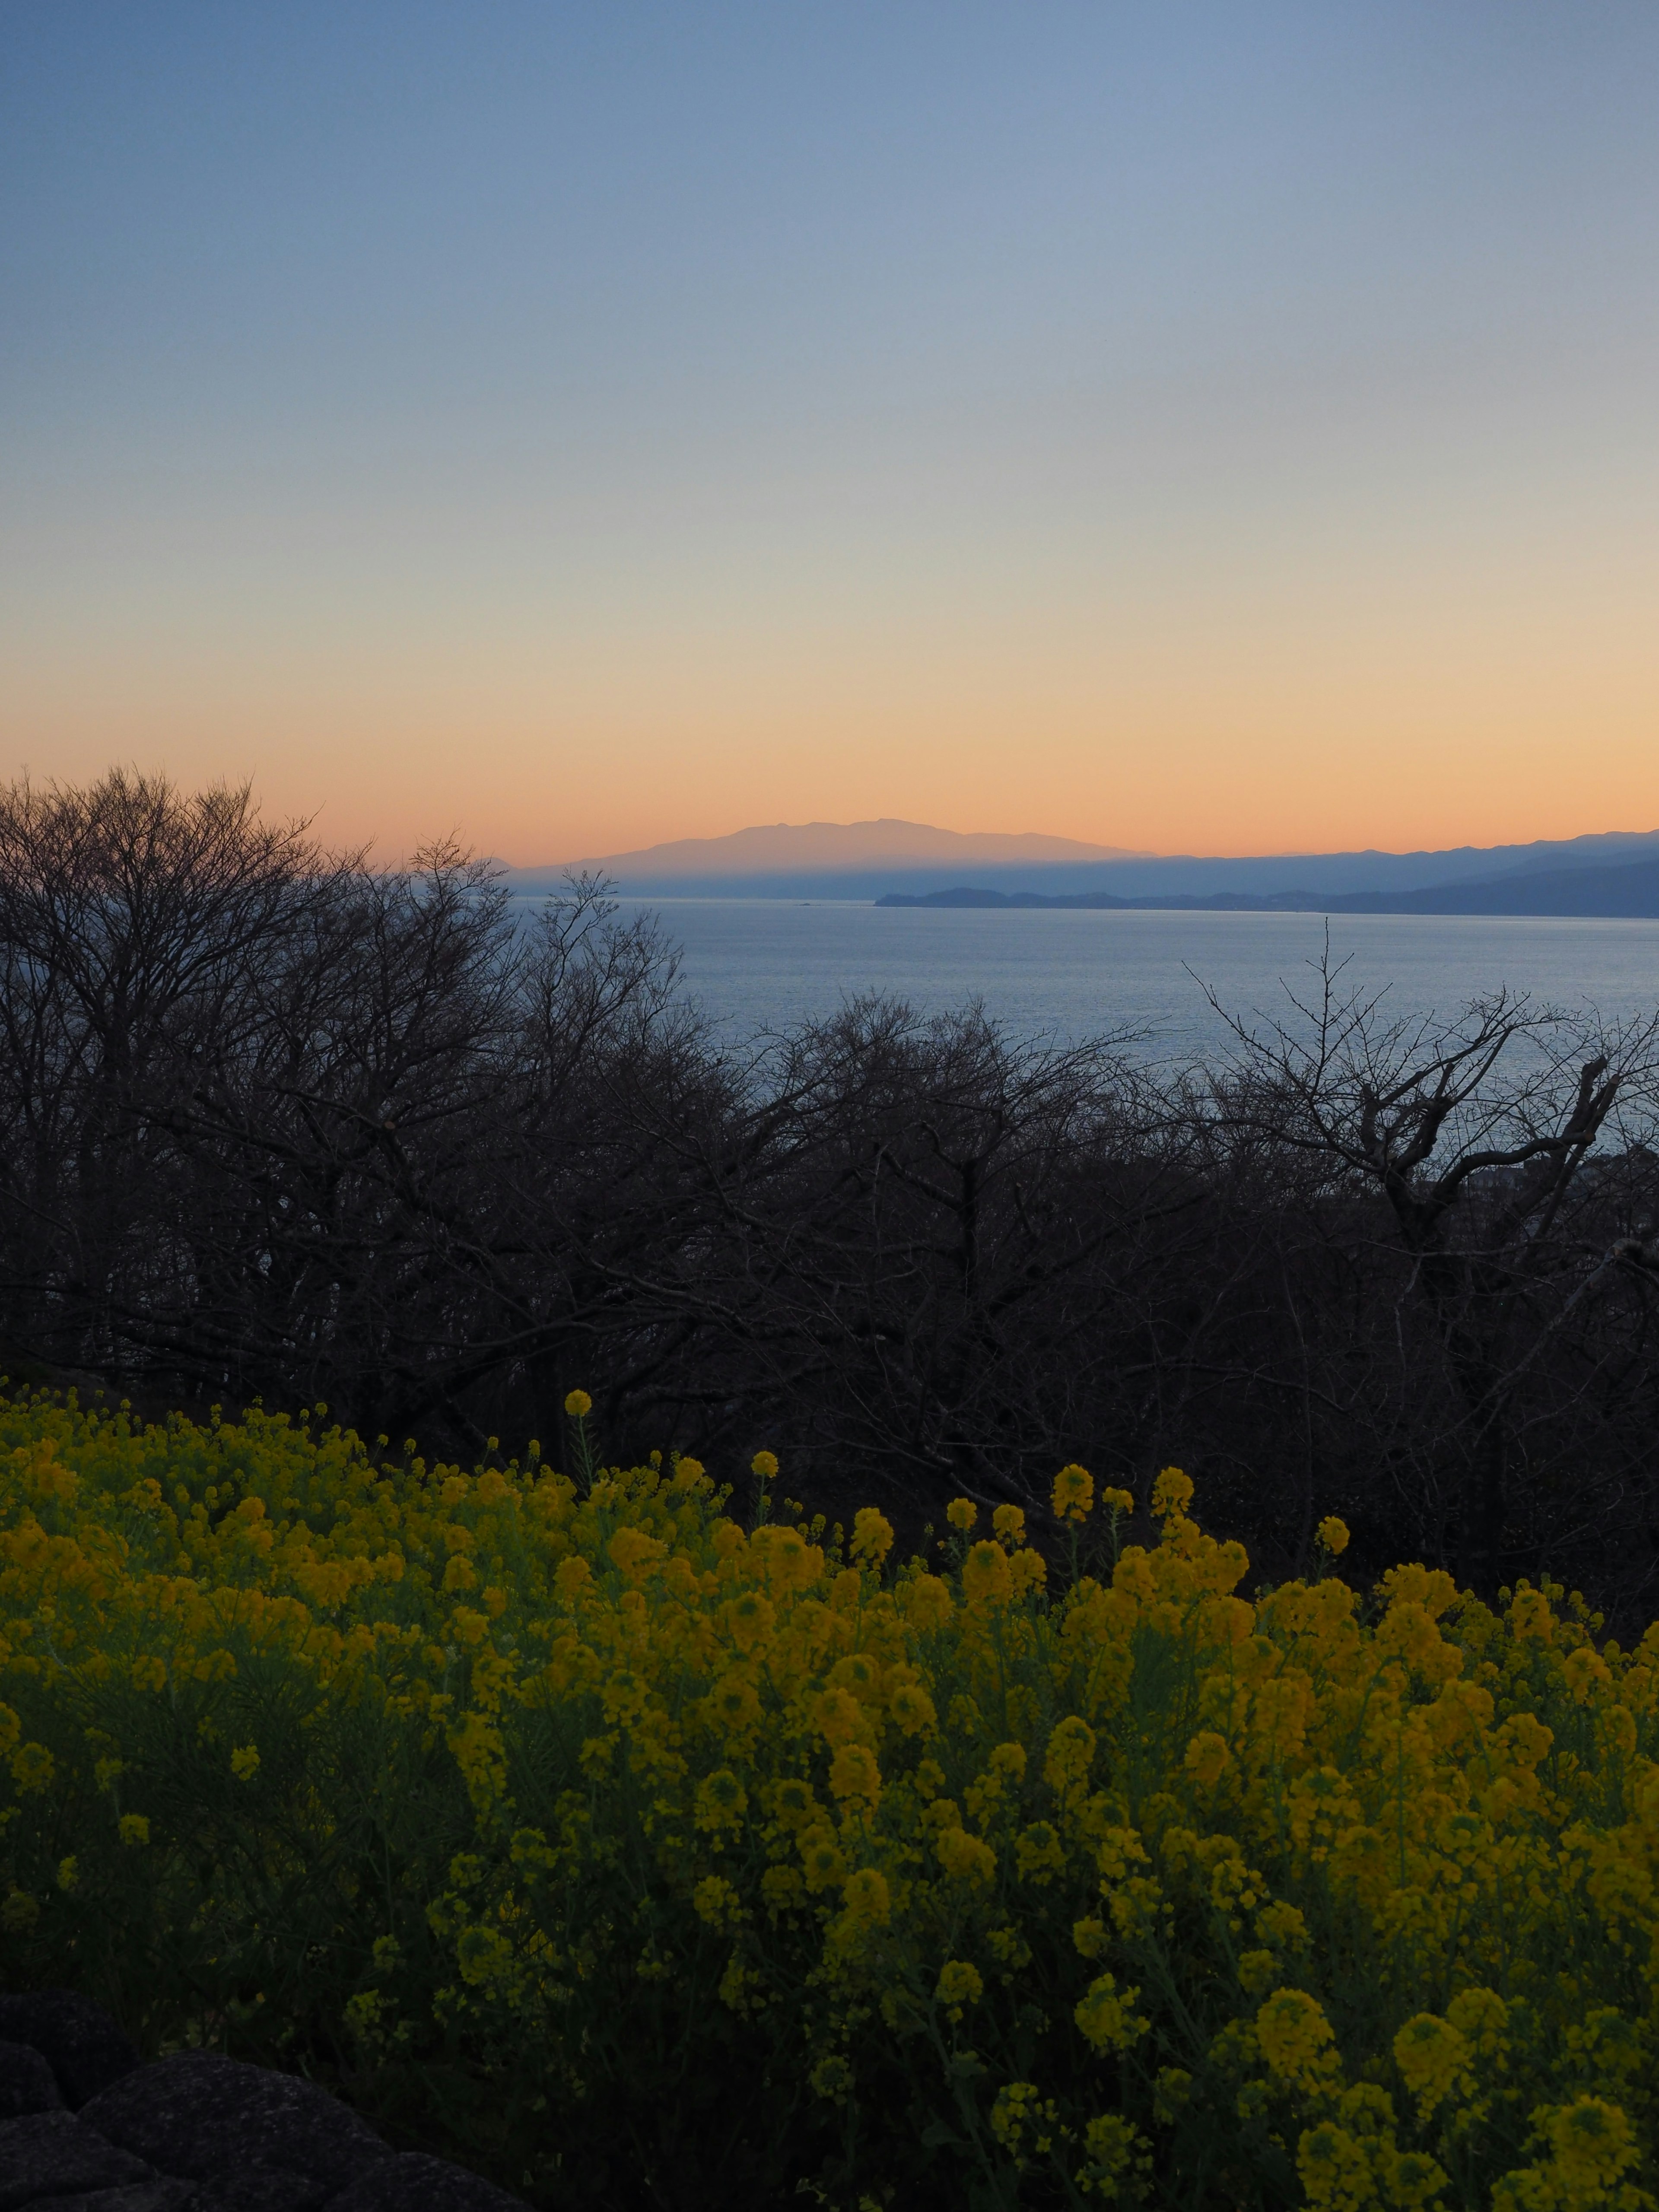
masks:
[[(332, 2197), (361, 2168), (392, 2157), (374, 2128), (327, 2090), (210, 2051), (139, 2066), (93, 2097), (82, 2117), (166, 2174), (212, 2181), (215, 2197), (221, 2174), (250, 2168), (323, 2183)], [(285, 2205), (303, 2212), (296, 2197)], [(283, 2208), (272, 2199), (268, 2212)]]

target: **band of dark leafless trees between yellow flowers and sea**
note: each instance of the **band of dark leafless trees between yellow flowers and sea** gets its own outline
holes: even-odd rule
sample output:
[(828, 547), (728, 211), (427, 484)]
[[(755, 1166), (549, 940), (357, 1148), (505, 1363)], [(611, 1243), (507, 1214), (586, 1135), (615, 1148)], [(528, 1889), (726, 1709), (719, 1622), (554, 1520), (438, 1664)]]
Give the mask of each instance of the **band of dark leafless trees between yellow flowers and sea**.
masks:
[(1652, 1024), (1327, 960), (1177, 1075), (887, 1000), (739, 1055), (595, 880), (119, 772), (0, 794), (0, 975), (13, 1371), (460, 1453), (580, 1383), (914, 1526), (1179, 1462), (1270, 1575), (1327, 1511), (1482, 1588), (1659, 1562)]

